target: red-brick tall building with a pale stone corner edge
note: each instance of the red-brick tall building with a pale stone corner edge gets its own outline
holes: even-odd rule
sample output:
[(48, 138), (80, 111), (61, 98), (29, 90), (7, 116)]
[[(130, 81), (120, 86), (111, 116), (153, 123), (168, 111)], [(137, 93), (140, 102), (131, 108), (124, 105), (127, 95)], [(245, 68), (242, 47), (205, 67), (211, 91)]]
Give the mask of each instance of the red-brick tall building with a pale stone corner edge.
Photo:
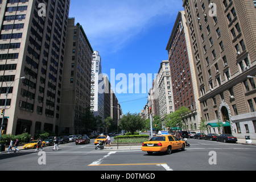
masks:
[[(191, 113), (185, 119), (184, 130), (199, 131), (201, 114), (197, 91), (197, 76), (193, 64), (193, 55), (187, 20), (184, 11), (179, 11), (172, 28), (171, 36), (166, 50), (168, 51), (168, 61), (170, 62), (170, 81), (175, 110), (182, 106), (188, 107)], [(199, 61), (196, 54), (195, 59)], [(197, 67), (200, 69), (200, 67)], [(200, 78), (201, 79), (201, 78)]]

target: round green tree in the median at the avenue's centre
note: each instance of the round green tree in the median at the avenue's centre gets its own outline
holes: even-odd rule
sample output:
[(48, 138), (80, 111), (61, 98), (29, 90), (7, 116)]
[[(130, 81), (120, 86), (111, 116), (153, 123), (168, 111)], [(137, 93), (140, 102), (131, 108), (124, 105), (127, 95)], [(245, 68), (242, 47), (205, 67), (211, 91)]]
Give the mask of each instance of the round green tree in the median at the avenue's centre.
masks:
[(135, 131), (143, 129), (145, 127), (145, 122), (141, 118), (141, 115), (137, 113), (131, 114), (126, 113), (123, 115), (123, 117), (120, 119), (119, 123), (121, 129), (130, 131), (131, 134), (134, 134)]

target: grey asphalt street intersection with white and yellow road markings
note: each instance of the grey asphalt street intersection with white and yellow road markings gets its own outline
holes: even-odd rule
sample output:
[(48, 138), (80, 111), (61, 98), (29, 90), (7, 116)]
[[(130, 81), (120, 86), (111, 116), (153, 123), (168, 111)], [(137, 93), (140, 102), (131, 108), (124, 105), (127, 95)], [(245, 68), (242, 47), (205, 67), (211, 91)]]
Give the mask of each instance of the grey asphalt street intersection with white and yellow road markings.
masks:
[[(256, 146), (188, 139), (191, 147), (172, 154), (148, 155), (141, 146), (116, 146), (95, 150), (89, 144), (60, 144), (60, 150), (44, 147), (43, 152), (20, 150), (0, 154), (0, 170), (66, 170), (66, 171), (190, 171), (255, 170)], [(211, 152), (213, 151), (213, 152)]]

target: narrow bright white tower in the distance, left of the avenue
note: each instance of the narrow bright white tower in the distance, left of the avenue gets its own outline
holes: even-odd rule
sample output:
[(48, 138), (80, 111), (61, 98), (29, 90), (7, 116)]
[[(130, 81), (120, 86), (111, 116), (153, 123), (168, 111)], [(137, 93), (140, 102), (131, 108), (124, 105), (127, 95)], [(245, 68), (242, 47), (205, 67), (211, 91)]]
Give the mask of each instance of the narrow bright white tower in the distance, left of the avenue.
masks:
[(90, 111), (104, 119), (104, 80), (101, 74), (101, 56), (98, 51), (92, 56), (92, 86), (90, 96)]

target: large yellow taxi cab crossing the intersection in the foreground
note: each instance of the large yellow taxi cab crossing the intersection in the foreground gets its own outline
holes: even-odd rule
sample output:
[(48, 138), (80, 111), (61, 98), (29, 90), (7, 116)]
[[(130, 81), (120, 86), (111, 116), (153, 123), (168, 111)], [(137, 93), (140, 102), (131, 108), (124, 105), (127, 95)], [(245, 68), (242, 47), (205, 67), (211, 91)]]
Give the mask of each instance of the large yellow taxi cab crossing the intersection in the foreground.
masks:
[(148, 142), (143, 142), (141, 150), (151, 155), (153, 152), (166, 152), (171, 154), (172, 150), (185, 150), (185, 142), (179, 140), (173, 135), (157, 135), (152, 137)]

